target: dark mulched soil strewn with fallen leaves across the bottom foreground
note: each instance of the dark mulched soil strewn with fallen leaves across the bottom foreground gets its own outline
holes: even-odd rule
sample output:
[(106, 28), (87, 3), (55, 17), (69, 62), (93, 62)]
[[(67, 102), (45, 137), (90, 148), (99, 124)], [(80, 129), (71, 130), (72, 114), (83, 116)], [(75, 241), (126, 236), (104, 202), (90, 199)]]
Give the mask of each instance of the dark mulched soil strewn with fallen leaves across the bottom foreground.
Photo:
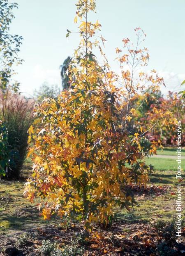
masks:
[[(44, 256), (40, 252), (42, 240), (49, 239), (56, 242), (60, 248), (66, 244), (71, 244), (72, 240), (83, 232), (82, 224), (57, 228), (54, 225), (45, 225), (42, 228), (27, 230), (32, 236), (32, 242), (26, 245), (16, 245), (18, 236), (14, 233), (9, 236), (0, 236), (0, 256)], [(169, 252), (159, 254), (159, 248), (163, 244), (173, 249), (173, 254)], [(79, 247), (82, 245), (79, 244)], [(180, 256), (185, 255), (185, 244), (178, 244), (166, 241), (164, 237), (157, 233), (156, 229), (145, 223), (113, 223), (110, 228), (103, 229), (99, 225), (93, 225), (93, 232), (86, 241), (84, 256)], [(157, 249), (158, 248), (158, 249)], [(165, 248), (164, 248), (165, 249)], [(82, 256), (82, 255), (79, 255)]]

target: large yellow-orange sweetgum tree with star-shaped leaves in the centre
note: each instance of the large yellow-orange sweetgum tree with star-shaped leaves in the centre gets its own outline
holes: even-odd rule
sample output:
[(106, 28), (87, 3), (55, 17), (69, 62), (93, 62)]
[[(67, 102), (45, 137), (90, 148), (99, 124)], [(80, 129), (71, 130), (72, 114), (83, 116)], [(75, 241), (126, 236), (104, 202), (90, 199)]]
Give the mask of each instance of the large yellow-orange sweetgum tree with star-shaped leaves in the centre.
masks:
[[(130, 210), (134, 198), (127, 187), (146, 185), (150, 168), (140, 146), (145, 133), (128, 132), (136, 115), (130, 108), (133, 90), (130, 103), (124, 103), (99, 43), (105, 40), (95, 37), (101, 25), (88, 21), (95, 0), (80, 0), (76, 6), (74, 22), (79, 22), (81, 41), (69, 64), (70, 86), (57, 100), (46, 99), (35, 109), (42, 116), (42, 128), (29, 129), (34, 166), (24, 195), (30, 201), (41, 198), (44, 219), (53, 214), (80, 216), (87, 230), (92, 221), (106, 225), (116, 206)], [(66, 36), (70, 33), (67, 30)], [(92, 53), (95, 47), (102, 65)]]

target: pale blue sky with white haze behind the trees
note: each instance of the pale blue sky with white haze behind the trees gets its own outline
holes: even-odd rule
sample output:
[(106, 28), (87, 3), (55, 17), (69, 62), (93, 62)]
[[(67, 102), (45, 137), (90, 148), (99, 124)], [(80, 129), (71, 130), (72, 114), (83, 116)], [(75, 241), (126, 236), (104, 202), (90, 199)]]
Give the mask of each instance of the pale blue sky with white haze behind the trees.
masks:
[[(20, 90), (27, 97), (44, 82), (61, 86), (60, 65), (72, 56), (79, 37), (66, 29), (78, 31), (74, 24), (77, 0), (14, 0), (18, 9), (11, 33), (23, 36), (16, 67)], [(147, 34), (145, 47), (149, 49), (148, 70), (155, 69), (164, 77), (168, 90), (178, 91), (185, 79), (185, 0), (97, 0), (97, 19), (102, 24), (102, 36), (107, 40), (104, 52), (113, 71), (118, 72), (115, 48), (123, 38), (134, 41), (134, 28), (141, 27)]]

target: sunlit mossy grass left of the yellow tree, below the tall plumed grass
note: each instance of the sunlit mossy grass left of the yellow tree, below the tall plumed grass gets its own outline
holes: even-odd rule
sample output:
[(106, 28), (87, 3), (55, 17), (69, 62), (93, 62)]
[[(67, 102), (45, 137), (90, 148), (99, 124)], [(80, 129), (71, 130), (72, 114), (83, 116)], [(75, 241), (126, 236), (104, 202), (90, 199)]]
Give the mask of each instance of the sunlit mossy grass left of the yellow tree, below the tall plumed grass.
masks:
[[(28, 175), (28, 170), (25, 175)], [(39, 215), (35, 206), (37, 200), (31, 204), (23, 197), (24, 183), (23, 180), (0, 182), (0, 233), (2, 234), (53, 223), (53, 220), (45, 221)]]

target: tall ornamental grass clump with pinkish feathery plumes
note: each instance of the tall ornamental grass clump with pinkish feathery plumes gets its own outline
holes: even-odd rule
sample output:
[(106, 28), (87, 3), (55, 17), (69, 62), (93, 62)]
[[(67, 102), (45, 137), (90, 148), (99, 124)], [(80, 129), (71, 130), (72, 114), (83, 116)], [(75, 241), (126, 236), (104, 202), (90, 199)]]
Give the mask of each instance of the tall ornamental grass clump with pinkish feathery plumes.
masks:
[[(8, 178), (18, 178), (28, 147), (28, 128), (34, 120), (34, 102), (23, 96), (7, 91), (0, 92), (0, 119), (7, 136), (5, 155), (9, 158)], [(5, 170), (4, 170), (5, 171)]]

